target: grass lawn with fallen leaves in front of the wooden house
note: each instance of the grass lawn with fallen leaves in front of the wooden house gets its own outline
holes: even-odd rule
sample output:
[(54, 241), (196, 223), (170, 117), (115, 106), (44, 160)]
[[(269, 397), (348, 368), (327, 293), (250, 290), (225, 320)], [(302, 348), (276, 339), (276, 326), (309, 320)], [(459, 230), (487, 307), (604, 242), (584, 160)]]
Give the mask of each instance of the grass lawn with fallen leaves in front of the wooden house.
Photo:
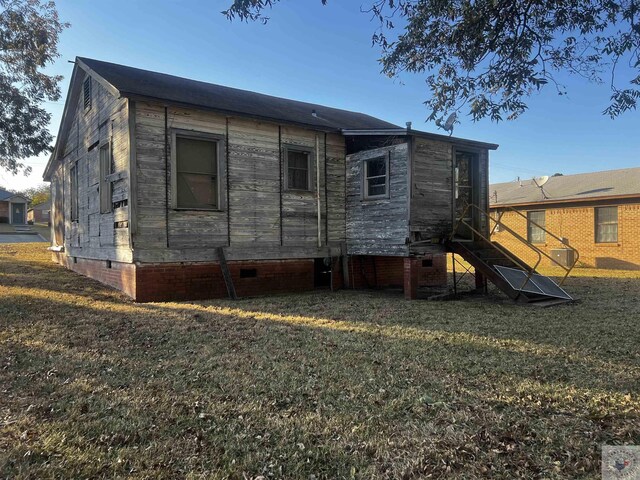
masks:
[(600, 478), (640, 444), (640, 274), (581, 303), (134, 304), (0, 246), (0, 478)]

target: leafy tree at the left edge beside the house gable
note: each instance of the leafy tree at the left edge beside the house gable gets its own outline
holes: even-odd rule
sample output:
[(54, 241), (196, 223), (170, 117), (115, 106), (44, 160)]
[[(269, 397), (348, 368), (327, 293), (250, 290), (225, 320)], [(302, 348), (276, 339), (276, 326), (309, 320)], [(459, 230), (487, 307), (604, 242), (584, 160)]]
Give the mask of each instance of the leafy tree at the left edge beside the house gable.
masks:
[(50, 151), (43, 102), (60, 98), (61, 77), (42, 70), (59, 56), (67, 26), (52, 1), (0, 0), (0, 167), (13, 174), (28, 175), (22, 160)]

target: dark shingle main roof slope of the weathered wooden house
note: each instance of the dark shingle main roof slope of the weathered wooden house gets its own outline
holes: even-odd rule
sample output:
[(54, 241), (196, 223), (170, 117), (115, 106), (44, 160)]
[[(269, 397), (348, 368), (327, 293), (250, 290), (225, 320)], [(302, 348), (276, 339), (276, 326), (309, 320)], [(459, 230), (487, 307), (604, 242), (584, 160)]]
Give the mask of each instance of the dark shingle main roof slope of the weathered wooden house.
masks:
[[(125, 97), (155, 98), (195, 107), (323, 129), (395, 128), (363, 113), (272, 97), (164, 73), (78, 57)], [(313, 112), (316, 112), (316, 116)]]

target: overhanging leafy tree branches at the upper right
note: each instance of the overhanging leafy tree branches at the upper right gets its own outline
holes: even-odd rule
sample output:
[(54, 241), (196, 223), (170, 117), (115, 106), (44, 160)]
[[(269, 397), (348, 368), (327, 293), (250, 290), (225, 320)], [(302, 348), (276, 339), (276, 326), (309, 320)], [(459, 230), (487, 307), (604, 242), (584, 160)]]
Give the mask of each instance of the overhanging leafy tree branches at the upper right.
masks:
[[(263, 11), (278, 2), (233, 0), (222, 13), (266, 23)], [(370, 0), (362, 10), (378, 23), (382, 72), (426, 75), (428, 119), (438, 125), (459, 111), (473, 120), (515, 119), (547, 84), (566, 93), (560, 72), (606, 78), (611, 103), (603, 113), (611, 118), (640, 99), (639, 0)], [(622, 87), (623, 62), (633, 78)]]

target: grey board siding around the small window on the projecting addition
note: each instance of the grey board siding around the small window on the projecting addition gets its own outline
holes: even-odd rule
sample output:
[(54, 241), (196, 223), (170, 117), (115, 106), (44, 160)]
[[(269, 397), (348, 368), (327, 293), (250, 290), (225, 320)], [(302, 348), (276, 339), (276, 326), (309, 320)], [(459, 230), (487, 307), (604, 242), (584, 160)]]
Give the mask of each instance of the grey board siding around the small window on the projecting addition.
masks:
[[(362, 198), (366, 159), (389, 156), (389, 198)], [(407, 238), (409, 149), (406, 143), (347, 156), (347, 253), (405, 256)]]

